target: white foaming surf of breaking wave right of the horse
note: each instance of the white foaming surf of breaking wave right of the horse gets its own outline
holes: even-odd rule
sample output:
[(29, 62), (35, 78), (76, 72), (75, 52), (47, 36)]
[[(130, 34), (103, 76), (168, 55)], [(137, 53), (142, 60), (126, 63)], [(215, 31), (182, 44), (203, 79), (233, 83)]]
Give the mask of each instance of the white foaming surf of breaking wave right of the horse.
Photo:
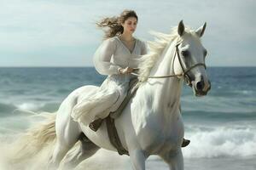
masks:
[(256, 130), (253, 127), (214, 127), (185, 133), (191, 140), (183, 149), (185, 158), (255, 156)]

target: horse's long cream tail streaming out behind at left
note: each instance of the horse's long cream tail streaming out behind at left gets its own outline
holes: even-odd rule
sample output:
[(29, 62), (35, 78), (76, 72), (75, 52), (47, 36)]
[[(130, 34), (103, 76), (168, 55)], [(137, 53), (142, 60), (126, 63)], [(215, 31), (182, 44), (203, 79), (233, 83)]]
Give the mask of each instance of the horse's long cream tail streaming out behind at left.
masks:
[(15, 141), (13, 147), (11, 163), (20, 163), (36, 156), (44, 147), (55, 142), (55, 113), (39, 114), (45, 119), (44, 122), (28, 129), (20, 139)]

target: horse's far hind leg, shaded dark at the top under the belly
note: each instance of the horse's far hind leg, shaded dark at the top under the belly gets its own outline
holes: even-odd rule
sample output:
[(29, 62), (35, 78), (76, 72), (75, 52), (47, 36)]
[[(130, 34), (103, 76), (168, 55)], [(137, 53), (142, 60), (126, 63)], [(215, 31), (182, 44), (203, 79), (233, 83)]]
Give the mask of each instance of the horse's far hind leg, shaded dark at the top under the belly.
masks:
[(81, 161), (93, 156), (96, 151), (100, 149), (100, 147), (92, 143), (90, 139), (84, 135), (84, 133), (81, 133), (79, 140), (79, 147), (75, 147), (74, 150), (67, 153), (67, 156), (65, 156), (61, 162), (61, 167), (72, 169), (79, 165)]

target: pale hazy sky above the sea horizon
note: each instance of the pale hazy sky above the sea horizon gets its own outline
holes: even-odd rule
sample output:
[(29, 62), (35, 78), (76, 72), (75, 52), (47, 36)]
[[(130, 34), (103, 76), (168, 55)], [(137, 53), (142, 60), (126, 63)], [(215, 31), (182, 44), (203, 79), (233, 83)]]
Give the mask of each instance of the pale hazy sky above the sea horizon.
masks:
[(193, 29), (207, 22), (207, 65), (256, 66), (255, 0), (0, 0), (0, 66), (93, 66), (96, 21), (125, 8), (137, 12), (143, 41), (180, 20)]

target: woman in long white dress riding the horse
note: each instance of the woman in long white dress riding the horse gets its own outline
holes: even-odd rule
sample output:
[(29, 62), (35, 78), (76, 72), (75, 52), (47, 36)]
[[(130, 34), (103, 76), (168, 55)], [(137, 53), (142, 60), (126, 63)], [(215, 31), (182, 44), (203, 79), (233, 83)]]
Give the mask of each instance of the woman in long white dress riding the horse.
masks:
[[(125, 99), (132, 78), (130, 73), (138, 67), (140, 56), (147, 54), (145, 42), (133, 37), (138, 17), (133, 10), (124, 10), (119, 17), (105, 18), (97, 26), (108, 27), (105, 41), (96, 50), (96, 71), (107, 75), (107, 79), (96, 91), (84, 96), (84, 100), (73, 109), (75, 121), (88, 122), (96, 131), (102, 119), (116, 111)], [(183, 147), (189, 140), (183, 139)]]

